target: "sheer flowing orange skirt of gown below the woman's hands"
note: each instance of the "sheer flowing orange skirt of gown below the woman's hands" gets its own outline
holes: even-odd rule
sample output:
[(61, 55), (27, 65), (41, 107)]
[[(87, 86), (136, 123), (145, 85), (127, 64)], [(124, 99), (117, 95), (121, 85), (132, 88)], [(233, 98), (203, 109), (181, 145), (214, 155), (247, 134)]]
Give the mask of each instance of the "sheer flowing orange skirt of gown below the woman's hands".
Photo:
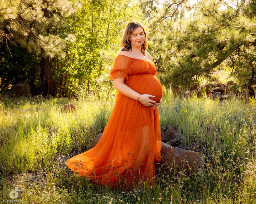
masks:
[(129, 189), (153, 185), (155, 165), (161, 160), (158, 108), (145, 107), (118, 92), (113, 111), (97, 145), (66, 161), (79, 175), (97, 185)]

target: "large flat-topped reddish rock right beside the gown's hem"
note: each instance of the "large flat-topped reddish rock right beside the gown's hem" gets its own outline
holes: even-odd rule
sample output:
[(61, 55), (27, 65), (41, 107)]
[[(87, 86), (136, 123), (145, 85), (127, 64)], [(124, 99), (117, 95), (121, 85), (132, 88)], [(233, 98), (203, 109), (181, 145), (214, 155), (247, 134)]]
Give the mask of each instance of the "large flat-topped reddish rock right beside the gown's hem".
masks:
[(160, 164), (164, 167), (174, 165), (178, 171), (182, 169), (183, 164), (186, 164), (184, 166), (186, 169), (191, 168), (195, 172), (198, 172), (199, 168), (203, 169), (204, 155), (202, 153), (172, 147), (164, 142), (162, 142), (161, 158)]

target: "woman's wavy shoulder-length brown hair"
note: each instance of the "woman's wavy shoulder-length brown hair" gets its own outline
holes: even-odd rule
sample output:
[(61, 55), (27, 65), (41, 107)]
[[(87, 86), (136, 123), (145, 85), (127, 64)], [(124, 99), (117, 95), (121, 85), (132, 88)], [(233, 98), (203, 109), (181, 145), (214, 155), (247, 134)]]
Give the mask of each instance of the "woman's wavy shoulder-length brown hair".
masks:
[(138, 21), (132, 21), (132, 22), (129, 22), (125, 31), (124, 31), (124, 34), (123, 34), (123, 40), (121, 42), (121, 49), (122, 51), (127, 51), (128, 50), (132, 50), (132, 46), (131, 46), (131, 43), (130, 43), (130, 36), (133, 34), (134, 30), (138, 27), (142, 27), (143, 28), (143, 32), (145, 34), (145, 41), (144, 43), (142, 44), (141, 48), (140, 48), (140, 51), (142, 51), (143, 55), (146, 56), (145, 52), (146, 52), (146, 49), (148, 48), (148, 41), (147, 41), (147, 36), (148, 36), (148, 33), (146, 32), (145, 30), (145, 27), (139, 23)]

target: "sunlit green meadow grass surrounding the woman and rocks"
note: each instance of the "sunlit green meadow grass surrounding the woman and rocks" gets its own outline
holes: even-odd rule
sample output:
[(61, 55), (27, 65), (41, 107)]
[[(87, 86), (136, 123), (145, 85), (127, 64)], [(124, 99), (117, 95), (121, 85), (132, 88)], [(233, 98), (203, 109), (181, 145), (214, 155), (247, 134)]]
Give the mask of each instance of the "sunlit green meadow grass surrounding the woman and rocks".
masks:
[[(77, 111), (62, 113), (67, 103)], [(113, 104), (113, 97), (82, 92), (74, 99), (2, 99), (1, 186), (22, 187), (23, 203), (255, 203), (256, 114), (249, 101), (182, 98), (164, 89), (161, 128), (176, 126), (179, 147), (203, 153), (204, 170), (174, 174), (160, 167), (153, 187), (130, 192), (95, 186), (64, 164), (103, 131)]]

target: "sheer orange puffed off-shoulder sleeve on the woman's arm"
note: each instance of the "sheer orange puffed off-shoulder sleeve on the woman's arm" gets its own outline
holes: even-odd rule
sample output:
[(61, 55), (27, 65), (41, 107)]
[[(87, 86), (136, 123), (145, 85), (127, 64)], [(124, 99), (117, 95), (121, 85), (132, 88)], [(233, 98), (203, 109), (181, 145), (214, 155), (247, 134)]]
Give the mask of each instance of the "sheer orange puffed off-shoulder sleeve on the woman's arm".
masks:
[(129, 75), (132, 73), (132, 63), (129, 57), (124, 55), (118, 55), (114, 60), (110, 76), (108, 79), (116, 79), (125, 77), (125, 80), (129, 79)]

